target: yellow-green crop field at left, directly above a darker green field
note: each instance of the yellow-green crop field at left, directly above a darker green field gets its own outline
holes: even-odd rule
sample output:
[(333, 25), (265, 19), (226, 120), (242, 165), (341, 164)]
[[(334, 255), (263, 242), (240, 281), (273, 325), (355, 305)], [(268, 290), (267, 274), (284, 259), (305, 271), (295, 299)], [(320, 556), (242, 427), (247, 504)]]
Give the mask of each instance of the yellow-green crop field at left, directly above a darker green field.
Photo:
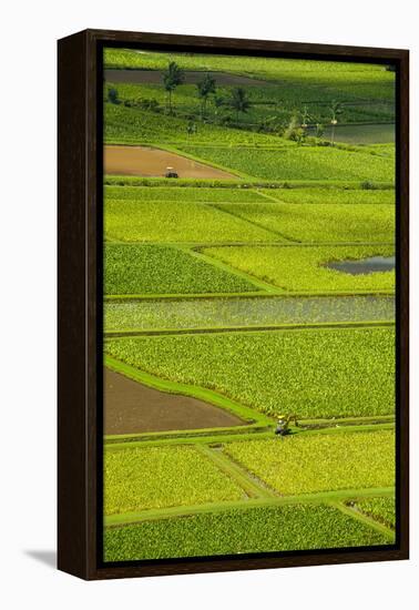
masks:
[(228, 210), (182, 201), (106, 199), (104, 228), (108, 240), (121, 242), (211, 244), (285, 241), (268, 230), (228, 214)]

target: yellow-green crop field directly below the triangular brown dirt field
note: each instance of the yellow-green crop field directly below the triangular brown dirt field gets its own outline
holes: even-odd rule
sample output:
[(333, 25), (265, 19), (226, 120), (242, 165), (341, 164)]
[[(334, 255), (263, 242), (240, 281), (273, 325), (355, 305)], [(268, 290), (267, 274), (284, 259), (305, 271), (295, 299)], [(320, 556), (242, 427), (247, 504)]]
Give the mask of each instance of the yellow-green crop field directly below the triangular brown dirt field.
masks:
[(105, 515), (242, 498), (242, 489), (192, 447), (105, 454)]

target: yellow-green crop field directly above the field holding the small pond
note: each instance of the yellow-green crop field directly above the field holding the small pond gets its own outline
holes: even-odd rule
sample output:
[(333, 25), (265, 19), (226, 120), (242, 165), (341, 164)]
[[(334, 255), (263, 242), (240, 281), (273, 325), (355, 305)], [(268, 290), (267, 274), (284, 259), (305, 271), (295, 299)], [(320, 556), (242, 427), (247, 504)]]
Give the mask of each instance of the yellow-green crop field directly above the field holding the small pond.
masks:
[(395, 206), (247, 203), (219, 210), (297, 242), (394, 242)]

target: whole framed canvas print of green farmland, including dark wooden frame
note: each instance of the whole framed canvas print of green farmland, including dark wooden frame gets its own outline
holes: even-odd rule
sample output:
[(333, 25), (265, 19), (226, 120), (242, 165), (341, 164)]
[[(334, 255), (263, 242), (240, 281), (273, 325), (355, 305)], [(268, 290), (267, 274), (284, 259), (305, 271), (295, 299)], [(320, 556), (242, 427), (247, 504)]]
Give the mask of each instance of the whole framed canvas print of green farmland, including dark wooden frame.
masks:
[(59, 41), (59, 568), (408, 558), (408, 51)]

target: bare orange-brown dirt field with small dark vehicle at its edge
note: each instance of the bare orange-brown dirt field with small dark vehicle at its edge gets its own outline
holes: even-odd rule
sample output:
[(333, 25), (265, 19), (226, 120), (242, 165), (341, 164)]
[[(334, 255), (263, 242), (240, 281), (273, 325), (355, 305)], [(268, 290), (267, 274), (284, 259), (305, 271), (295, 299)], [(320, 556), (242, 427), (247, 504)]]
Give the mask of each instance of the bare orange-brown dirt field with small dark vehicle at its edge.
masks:
[(186, 156), (151, 146), (104, 146), (105, 174), (162, 177), (168, 166), (174, 167), (178, 177), (237, 177)]

